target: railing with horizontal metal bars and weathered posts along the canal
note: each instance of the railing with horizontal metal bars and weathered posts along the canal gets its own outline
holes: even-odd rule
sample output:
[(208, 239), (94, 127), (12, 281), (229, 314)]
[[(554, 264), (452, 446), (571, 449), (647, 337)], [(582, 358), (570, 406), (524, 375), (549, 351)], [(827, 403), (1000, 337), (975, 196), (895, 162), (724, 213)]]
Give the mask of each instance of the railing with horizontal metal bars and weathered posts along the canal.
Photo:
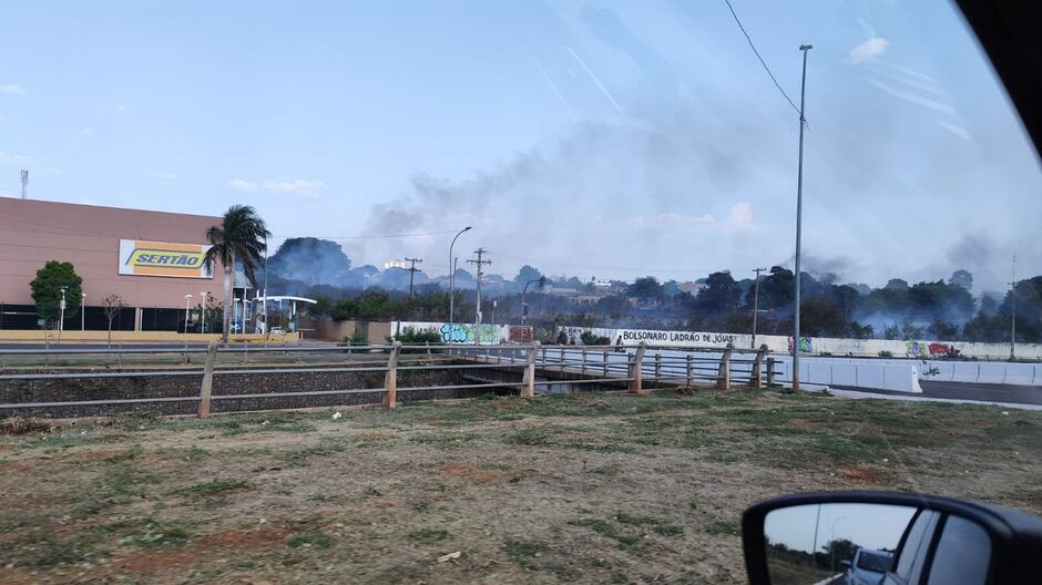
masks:
[[(630, 392), (644, 393), (645, 381), (656, 383), (675, 383), (692, 387), (695, 382), (712, 382), (721, 389), (731, 388), (738, 382), (753, 387), (760, 387), (766, 378), (768, 384), (774, 383), (774, 360), (766, 358), (766, 348), (752, 353), (753, 359), (735, 359), (734, 349), (689, 351), (683, 356), (662, 355), (656, 352), (647, 355), (647, 346), (641, 343), (633, 348), (619, 351), (617, 346), (574, 347), (546, 346), (539, 342), (531, 346), (461, 346), (461, 345), (410, 345), (400, 342), (392, 345), (374, 346), (323, 346), (323, 347), (279, 347), (279, 348), (251, 348), (249, 352), (307, 352), (307, 353), (364, 353), (367, 357), (382, 359), (351, 361), (343, 366), (325, 367), (293, 367), (293, 368), (218, 368), (217, 357), (221, 353), (242, 352), (239, 348), (219, 347), (212, 341), (203, 348), (126, 348), (112, 351), (109, 349), (59, 349), (58, 353), (71, 355), (142, 355), (142, 353), (205, 353), (206, 360), (202, 368), (182, 368), (175, 370), (141, 370), (141, 371), (78, 371), (78, 372), (44, 372), (44, 373), (0, 373), (2, 380), (64, 380), (64, 379), (105, 379), (133, 377), (184, 377), (202, 376), (198, 396), (188, 397), (153, 397), (127, 398), (110, 400), (72, 400), (55, 402), (22, 402), (0, 404), (3, 410), (28, 408), (60, 408), (60, 407), (102, 407), (115, 404), (144, 404), (159, 402), (197, 402), (200, 418), (210, 415), (210, 406), (214, 400), (233, 399), (264, 399), (284, 397), (318, 397), (346, 396), (353, 393), (381, 392), (384, 407), (397, 406), (398, 371), (445, 371), (445, 370), (481, 370), (481, 369), (521, 369), (522, 381), (518, 382), (480, 382), (468, 384), (410, 387), (410, 391), (423, 390), (461, 390), (461, 389), (500, 389), (510, 388), (519, 390), (522, 397), (533, 397), (535, 386), (555, 384), (592, 384), (592, 383), (626, 383)], [(48, 350), (54, 351), (54, 350)], [(0, 350), (0, 362), (7, 355), (40, 355), (40, 350)], [(699, 355), (702, 353), (702, 355)], [(709, 357), (709, 353), (714, 356)], [(716, 357), (715, 353), (719, 353)], [(386, 355), (386, 358), (384, 357)], [(406, 358), (403, 360), (403, 358)], [(411, 358), (408, 359), (408, 358)], [(766, 358), (766, 359), (765, 359)], [(467, 363), (452, 363), (447, 361), (464, 360)], [(579, 374), (576, 379), (537, 380), (539, 371), (568, 372)], [(382, 388), (344, 389), (344, 390), (314, 390), (293, 392), (264, 392), (244, 394), (213, 396), (214, 376), (225, 374), (274, 374), (274, 373), (307, 373), (307, 372), (349, 372), (349, 373), (384, 373)]]

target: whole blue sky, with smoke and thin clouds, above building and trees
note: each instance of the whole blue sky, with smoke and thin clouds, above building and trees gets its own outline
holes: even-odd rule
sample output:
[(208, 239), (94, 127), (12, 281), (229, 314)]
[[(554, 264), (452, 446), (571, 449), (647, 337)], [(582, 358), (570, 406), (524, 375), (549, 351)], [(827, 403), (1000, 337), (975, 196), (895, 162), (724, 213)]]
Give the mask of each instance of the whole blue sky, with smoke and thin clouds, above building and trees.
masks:
[[(0, 195), (219, 215), (354, 265), (879, 286), (1042, 274), (1042, 172), (939, 0), (7, 3)], [(408, 237), (381, 237), (407, 234)], [(418, 235), (419, 234), (419, 235)], [(427, 235), (423, 235), (427, 234)]]

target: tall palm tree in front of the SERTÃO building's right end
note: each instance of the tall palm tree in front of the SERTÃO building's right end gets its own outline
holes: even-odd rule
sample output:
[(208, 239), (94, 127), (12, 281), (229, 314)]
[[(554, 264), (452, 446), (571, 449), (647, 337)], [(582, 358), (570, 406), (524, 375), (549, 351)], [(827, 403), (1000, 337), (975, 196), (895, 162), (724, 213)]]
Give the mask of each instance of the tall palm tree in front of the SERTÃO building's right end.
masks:
[(267, 237), (272, 233), (264, 225), (264, 219), (248, 205), (233, 205), (224, 214), (218, 225), (206, 230), (206, 239), (212, 247), (203, 259), (206, 268), (214, 269), (218, 260), (224, 267), (224, 328), (221, 342), (227, 345), (232, 329), (232, 287), (234, 285), (235, 260), (243, 266), (246, 278), (256, 288), (254, 273), (264, 260), (267, 252)]

